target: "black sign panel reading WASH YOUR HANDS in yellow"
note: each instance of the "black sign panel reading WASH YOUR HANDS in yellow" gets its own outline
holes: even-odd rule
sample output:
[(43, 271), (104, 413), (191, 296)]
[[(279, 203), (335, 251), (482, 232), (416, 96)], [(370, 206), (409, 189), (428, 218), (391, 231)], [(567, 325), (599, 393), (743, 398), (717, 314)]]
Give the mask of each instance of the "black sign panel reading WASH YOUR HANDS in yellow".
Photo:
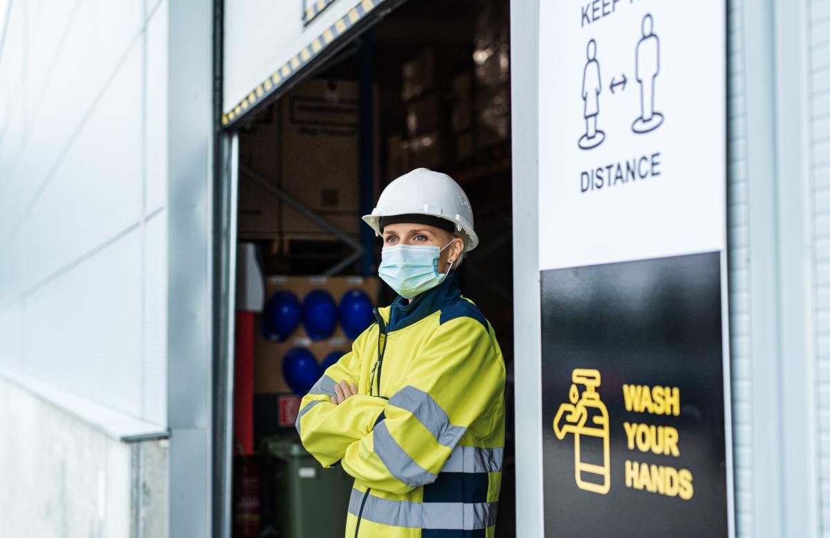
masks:
[(726, 536), (720, 252), (541, 280), (545, 536)]

